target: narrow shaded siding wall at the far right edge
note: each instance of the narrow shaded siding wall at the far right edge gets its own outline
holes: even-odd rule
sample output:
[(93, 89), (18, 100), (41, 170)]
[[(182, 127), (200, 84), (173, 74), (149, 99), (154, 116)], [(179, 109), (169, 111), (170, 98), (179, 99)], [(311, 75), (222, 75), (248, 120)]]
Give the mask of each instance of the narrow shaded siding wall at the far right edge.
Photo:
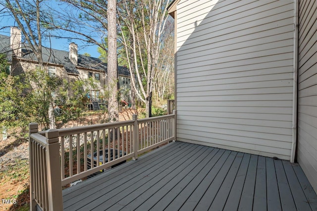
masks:
[(317, 2), (299, 1), (298, 162), (317, 192)]

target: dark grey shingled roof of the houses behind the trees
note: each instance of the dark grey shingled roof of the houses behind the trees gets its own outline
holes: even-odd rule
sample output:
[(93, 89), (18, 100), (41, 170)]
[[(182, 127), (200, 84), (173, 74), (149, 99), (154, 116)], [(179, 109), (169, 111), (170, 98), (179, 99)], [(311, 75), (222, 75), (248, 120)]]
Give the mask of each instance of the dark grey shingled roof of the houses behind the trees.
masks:
[[(22, 43), (22, 58), (37, 61), (36, 54), (27, 43)], [(5, 53), (9, 62), (12, 61), (12, 49), (10, 48), (10, 37), (0, 35), (0, 53)], [(79, 74), (78, 68), (92, 71), (107, 72), (107, 64), (99, 58), (86, 55), (78, 55), (78, 65), (75, 66), (69, 59), (69, 52), (53, 48), (42, 48), (43, 61), (51, 64), (61, 65), (69, 74)], [(130, 71), (126, 67), (118, 66), (118, 74), (130, 76)]]

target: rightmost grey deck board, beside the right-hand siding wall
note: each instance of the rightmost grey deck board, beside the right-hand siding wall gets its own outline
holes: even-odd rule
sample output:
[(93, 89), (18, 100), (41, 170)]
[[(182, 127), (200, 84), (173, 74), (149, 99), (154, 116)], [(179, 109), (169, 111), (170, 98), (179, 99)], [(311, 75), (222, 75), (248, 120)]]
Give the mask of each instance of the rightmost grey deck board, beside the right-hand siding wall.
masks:
[(299, 164), (292, 164), (296, 176), (312, 210), (317, 211), (317, 195)]

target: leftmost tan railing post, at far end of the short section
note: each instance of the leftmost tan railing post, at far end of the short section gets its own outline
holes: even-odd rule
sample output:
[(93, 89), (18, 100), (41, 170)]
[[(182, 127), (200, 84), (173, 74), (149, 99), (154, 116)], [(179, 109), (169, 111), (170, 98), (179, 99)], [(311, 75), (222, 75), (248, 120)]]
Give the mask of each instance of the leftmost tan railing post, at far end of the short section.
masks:
[(36, 201), (34, 200), (34, 165), (32, 165), (34, 161), (34, 150), (31, 143), (31, 133), (36, 133), (39, 131), (39, 124), (30, 123), (29, 124), (29, 168), (30, 168), (30, 211), (36, 211)]

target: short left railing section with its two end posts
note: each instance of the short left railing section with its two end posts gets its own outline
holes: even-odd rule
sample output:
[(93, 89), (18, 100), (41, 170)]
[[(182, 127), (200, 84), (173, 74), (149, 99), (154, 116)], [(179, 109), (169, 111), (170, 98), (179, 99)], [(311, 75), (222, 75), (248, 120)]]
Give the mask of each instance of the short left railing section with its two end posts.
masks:
[(29, 125), (30, 208), (43, 211), (62, 210), (58, 131), (38, 133), (38, 124)]

